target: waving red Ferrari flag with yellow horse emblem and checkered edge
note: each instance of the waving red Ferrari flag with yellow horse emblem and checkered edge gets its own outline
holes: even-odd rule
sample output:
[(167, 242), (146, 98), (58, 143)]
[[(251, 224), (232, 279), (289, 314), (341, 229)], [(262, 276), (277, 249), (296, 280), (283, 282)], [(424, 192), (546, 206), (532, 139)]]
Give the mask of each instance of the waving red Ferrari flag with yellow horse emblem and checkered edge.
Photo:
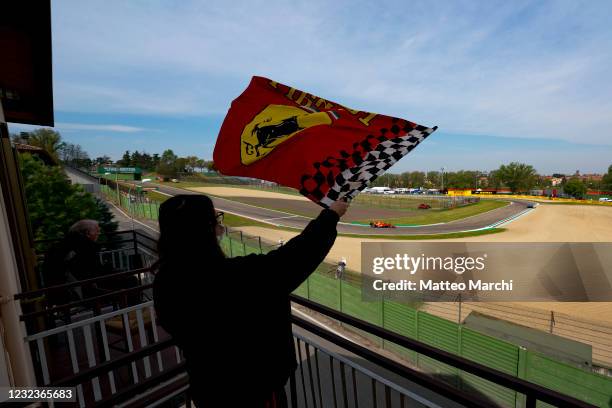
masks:
[(213, 160), (222, 174), (274, 181), (328, 207), (354, 198), (436, 128), (253, 77), (232, 102)]

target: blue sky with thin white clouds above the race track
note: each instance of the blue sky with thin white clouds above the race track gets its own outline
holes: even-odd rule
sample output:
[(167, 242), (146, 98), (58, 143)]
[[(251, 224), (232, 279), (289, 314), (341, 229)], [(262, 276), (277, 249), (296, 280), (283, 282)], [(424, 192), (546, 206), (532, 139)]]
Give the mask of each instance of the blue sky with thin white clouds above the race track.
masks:
[(612, 164), (610, 1), (52, 7), (56, 129), (92, 157), (171, 148), (210, 158), (232, 99), (262, 75), (438, 125), (394, 172)]

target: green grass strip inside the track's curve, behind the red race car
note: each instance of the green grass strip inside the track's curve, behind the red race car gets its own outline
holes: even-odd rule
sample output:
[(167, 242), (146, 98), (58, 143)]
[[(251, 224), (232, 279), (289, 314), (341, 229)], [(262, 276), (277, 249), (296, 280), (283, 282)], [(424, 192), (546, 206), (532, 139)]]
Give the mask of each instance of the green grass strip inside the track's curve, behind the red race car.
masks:
[[(460, 220), (462, 218), (471, 217), (473, 215), (482, 214), (487, 211), (495, 210), (496, 208), (505, 207), (507, 201), (480, 201), (475, 204), (468, 204), (463, 207), (457, 207), (444, 210), (415, 210), (415, 215), (409, 215), (399, 218), (381, 218), (385, 222), (398, 225), (427, 225), (437, 224), (440, 222), (450, 222)], [(358, 221), (363, 224), (368, 224), (372, 220)]]

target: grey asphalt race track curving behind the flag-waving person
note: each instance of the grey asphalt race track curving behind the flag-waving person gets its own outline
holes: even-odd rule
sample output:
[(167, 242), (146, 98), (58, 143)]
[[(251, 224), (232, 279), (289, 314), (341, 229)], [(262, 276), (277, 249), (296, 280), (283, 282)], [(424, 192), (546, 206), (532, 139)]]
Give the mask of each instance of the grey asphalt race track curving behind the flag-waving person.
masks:
[[(156, 184), (159, 191), (168, 195), (178, 194), (201, 194), (195, 191), (189, 191), (182, 188), (162, 186)], [(298, 230), (304, 229), (306, 224), (310, 222), (310, 218), (300, 215), (293, 215), (282, 211), (271, 210), (268, 208), (256, 207), (249, 204), (243, 204), (237, 201), (228, 200), (221, 197), (210, 196), (215, 204), (215, 208), (230, 214), (239, 215), (241, 217), (250, 218), (256, 221), (265, 222), (278, 227), (289, 227)], [(507, 206), (497, 208), (488, 212), (477, 214), (471, 217), (463, 218), (456, 221), (451, 221), (441, 224), (431, 224), (414, 227), (398, 227), (398, 228), (371, 228), (369, 226), (355, 225), (348, 223), (338, 224), (338, 233), (340, 234), (359, 234), (359, 235), (425, 235), (425, 234), (449, 234), (454, 232), (477, 231), (487, 228), (494, 228), (509, 222), (528, 211), (533, 209), (528, 208), (529, 201), (526, 200), (508, 200)]]

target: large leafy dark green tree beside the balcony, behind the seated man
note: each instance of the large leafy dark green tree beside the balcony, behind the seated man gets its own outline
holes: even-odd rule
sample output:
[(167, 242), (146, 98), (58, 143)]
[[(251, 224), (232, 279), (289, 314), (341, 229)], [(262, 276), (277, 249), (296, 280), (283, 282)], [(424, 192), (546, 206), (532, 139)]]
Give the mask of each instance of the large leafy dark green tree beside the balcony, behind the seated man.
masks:
[(105, 236), (117, 230), (106, 205), (70, 184), (61, 167), (45, 166), (27, 153), (20, 155), (19, 164), (35, 240), (62, 238), (72, 224), (85, 218), (97, 220)]

